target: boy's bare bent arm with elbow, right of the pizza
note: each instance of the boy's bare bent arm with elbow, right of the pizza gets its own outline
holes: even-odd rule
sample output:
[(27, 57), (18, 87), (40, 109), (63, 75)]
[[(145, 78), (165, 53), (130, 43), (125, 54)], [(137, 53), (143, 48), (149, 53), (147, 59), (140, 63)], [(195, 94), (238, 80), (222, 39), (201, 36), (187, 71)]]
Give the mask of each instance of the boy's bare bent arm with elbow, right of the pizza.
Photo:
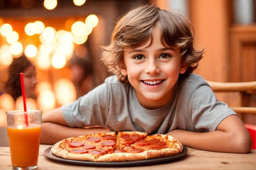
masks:
[(173, 130), (167, 135), (173, 136), (184, 146), (200, 150), (248, 153), (252, 148), (251, 136), (236, 115), (225, 118), (213, 132)]

